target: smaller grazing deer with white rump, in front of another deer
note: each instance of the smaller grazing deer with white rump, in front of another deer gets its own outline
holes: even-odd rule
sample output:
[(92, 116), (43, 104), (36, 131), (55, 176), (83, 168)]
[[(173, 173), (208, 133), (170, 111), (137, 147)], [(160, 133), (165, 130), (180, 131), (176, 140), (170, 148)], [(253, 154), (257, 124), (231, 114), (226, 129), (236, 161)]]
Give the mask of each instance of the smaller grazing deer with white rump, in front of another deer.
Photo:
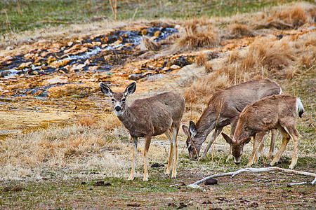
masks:
[(232, 147), (232, 155), (235, 158), (235, 162), (237, 164), (240, 162), (244, 145), (249, 143), (251, 137), (256, 135), (254, 149), (247, 164), (247, 167), (250, 167), (254, 163), (254, 156), (258, 153), (258, 145), (261, 143), (265, 133), (272, 129), (278, 129), (282, 134), (282, 144), (270, 165), (275, 165), (279, 161), (285, 147), (289, 143), (289, 139), (292, 137), (294, 140), (294, 151), (289, 169), (294, 169), (301, 138), (295, 127), (297, 111), (301, 118), (304, 112), (303, 104), (300, 99), (289, 94), (272, 95), (246, 106), (239, 116), (234, 137), (230, 139), (228, 135), (222, 133), (224, 139)]

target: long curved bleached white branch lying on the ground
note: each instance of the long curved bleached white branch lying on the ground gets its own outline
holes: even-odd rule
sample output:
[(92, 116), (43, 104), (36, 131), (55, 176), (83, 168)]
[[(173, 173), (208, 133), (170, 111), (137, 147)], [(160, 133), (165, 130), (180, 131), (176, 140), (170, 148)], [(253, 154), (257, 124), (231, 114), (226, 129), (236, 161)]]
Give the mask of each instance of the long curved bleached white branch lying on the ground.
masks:
[(316, 183), (316, 174), (310, 173), (310, 172), (301, 172), (301, 171), (296, 171), (296, 170), (291, 170), (291, 169), (282, 169), (279, 167), (267, 167), (267, 168), (245, 168), (245, 169), (239, 169), (236, 172), (228, 172), (228, 173), (223, 173), (223, 174), (215, 174), (211, 176), (207, 176), (204, 179), (201, 179), (199, 181), (196, 181), (195, 183), (192, 183), (188, 185), (188, 188), (201, 188), (198, 186), (199, 183), (202, 183), (208, 179), (213, 179), (216, 177), (222, 177), (222, 176), (232, 176), (232, 178), (238, 174), (244, 173), (244, 172), (271, 172), (271, 171), (276, 171), (276, 172), (283, 172), (283, 173), (289, 173), (289, 174), (299, 174), (299, 175), (305, 175), (305, 176), (312, 176), (315, 177), (314, 181), (312, 181), (312, 185)]

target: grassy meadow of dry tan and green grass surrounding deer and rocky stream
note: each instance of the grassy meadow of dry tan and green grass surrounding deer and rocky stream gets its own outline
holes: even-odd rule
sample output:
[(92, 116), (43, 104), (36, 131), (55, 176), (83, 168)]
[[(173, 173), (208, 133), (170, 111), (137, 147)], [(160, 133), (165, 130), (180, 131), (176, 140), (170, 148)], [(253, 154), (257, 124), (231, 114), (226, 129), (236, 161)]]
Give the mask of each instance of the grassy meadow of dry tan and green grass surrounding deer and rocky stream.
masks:
[[(143, 39), (142, 50), (149, 57), (107, 73), (105, 78), (112, 83), (113, 90), (124, 90), (131, 83), (122, 73), (130, 66), (144, 63), (154, 66), (159, 58), (190, 56), (190, 65), (137, 80), (138, 89), (129, 98), (131, 103), (159, 92), (178, 92), (186, 102), (182, 125), (188, 125), (189, 120), (197, 122), (217, 90), (252, 79), (275, 80), (283, 93), (301, 98), (305, 113), (296, 126), (301, 134), (296, 169), (315, 173), (316, 6), (313, 1), (118, 1), (114, 21), (109, 1), (17, 0), (1, 1), (0, 17), (0, 64), (8, 56), (31, 52), (32, 45), (43, 40), (62, 43), (77, 40), (79, 36), (139, 29), (143, 25), (174, 26), (179, 33), (164, 42)], [(6, 87), (2, 83), (6, 79), (1, 78), (3, 94), (8, 92), (6, 88), (14, 92), (19, 85), (17, 80)], [(27, 127), (25, 120), (24, 129), (1, 137), (1, 209), (316, 208), (315, 186), (288, 185), (310, 183), (313, 178), (308, 176), (277, 172), (242, 174), (219, 178), (216, 186), (201, 184), (202, 190), (186, 188), (211, 174), (245, 167), (252, 144), (245, 146), (241, 165), (235, 165), (232, 160), (225, 161), (229, 147), (218, 137), (206, 160), (198, 162), (189, 159), (182, 130), (178, 134), (177, 179), (164, 175), (169, 141), (158, 136), (152, 139), (149, 162), (164, 166), (149, 167), (149, 181), (143, 182), (144, 141), (140, 139), (136, 179), (127, 181), (132, 161), (129, 133), (114, 116), (110, 99), (100, 94), (98, 82), (80, 78), (74, 85), (77, 83), (93, 88), (84, 100), (70, 99), (78, 104), (89, 103), (73, 119), (67, 116), (66, 120), (45, 127)], [(29, 96), (25, 99), (34, 100), (25, 102), (31, 104), (39, 101)], [(66, 97), (52, 93), (49, 99), (62, 103)], [(1, 97), (4, 107), (7, 101), (13, 106), (13, 100)], [(17, 109), (16, 115), (19, 111), (23, 110)], [(228, 126), (223, 132), (229, 134), (229, 130)], [(268, 155), (270, 141), (266, 142), (264, 154)], [(278, 134), (276, 148), (280, 144)], [(292, 151), (290, 140), (278, 167), (289, 167)], [(265, 155), (254, 167), (268, 165), (271, 160)]]

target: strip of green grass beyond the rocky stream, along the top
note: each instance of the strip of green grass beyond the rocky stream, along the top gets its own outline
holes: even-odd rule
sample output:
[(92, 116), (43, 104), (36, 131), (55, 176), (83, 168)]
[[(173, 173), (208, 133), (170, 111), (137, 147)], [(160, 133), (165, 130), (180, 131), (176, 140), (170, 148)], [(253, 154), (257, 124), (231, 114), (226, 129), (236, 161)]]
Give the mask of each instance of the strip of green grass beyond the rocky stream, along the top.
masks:
[[(239, 2), (239, 3), (238, 3)], [(199, 18), (248, 13), (291, 1), (118, 1), (117, 20)], [(310, 1), (312, 2), (312, 1)], [(72, 23), (113, 20), (109, 1), (0, 1), (0, 34)]]

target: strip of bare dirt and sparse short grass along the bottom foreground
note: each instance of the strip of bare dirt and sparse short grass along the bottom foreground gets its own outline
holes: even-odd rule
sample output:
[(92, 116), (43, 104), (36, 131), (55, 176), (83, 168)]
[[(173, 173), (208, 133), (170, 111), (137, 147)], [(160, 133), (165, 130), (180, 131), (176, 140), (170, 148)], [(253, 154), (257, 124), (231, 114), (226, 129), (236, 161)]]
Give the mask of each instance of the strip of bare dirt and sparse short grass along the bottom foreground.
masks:
[[(204, 164), (207, 164), (204, 163)], [(231, 167), (230, 167), (231, 168)], [(178, 170), (178, 178), (151, 168), (151, 179), (105, 178), (61, 180), (42, 178), (31, 183), (9, 183), (1, 190), (2, 209), (315, 209), (314, 186), (289, 186), (312, 178), (265, 172), (218, 178), (202, 190), (186, 185), (203, 178), (195, 169)], [(297, 168), (298, 170), (300, 167)], [(304, 168), (305, 169), (305, 168)], [(228, 169), (229, 170), (229, 169)], [(212, 172), (212, 169), (209, 170)], [(48, 176), (47, 176), (48, 177)]]

